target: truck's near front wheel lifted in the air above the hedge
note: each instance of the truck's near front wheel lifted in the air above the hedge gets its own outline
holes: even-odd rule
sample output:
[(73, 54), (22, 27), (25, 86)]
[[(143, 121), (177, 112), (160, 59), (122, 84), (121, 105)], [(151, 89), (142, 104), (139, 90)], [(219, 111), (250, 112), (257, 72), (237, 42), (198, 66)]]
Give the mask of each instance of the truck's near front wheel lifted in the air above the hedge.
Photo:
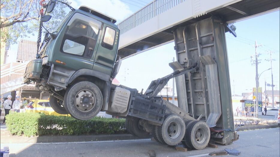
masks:
[(92, 82), (82, 81), (70, 86), (64, 95), (64, 106), (69, 114), (79, 120), (94, 118), (101, 110), (103, 96)]

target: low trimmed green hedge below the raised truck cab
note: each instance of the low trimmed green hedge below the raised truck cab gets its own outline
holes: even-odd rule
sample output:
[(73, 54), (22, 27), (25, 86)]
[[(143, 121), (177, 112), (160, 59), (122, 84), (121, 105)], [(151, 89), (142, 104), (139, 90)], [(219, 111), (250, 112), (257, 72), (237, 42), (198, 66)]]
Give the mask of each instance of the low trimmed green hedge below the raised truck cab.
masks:
[(127, 133), (125, 119), (100, 118), (81, 121), (73, 117), (17, 113), (6, 116), (7, 129), (13, 135), (82, 135)]

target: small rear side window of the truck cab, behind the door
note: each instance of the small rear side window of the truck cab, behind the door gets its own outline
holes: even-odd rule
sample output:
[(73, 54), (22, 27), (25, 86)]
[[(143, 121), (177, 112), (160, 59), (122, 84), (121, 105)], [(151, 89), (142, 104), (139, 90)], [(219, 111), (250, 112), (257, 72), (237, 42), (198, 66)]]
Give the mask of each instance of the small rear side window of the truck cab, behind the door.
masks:
[(115, 34), (116, 31), (114, 29), (106, 27), (101, 45), (104, 48), (112, 50), (114, 47)]

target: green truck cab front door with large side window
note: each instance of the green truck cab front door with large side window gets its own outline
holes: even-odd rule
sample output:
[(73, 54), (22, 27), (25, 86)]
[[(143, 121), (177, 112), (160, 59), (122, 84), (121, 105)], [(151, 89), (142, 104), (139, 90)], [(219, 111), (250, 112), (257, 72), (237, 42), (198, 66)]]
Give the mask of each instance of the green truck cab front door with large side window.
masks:
[[(92, 69), (94, 64), (94, 52), (97, 51), (96, 43), (100, 40), (100, 28), (102, 23), (96, 19), (76, 13), (67, 24), (64, 33), (60, 53), (56, 53), (53, 59), (65, 63), (64, 65), (78, 70), (81, 68)], [(59, 64), (61, 65), (61, 64)]]

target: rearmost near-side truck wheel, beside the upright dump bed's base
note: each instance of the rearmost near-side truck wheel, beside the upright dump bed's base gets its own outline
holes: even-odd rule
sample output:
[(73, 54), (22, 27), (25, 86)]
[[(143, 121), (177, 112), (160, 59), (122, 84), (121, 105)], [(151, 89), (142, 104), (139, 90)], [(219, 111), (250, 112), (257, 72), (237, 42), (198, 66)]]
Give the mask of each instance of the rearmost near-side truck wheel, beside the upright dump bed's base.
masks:
[(187, 128), (186, 141), (188, 145), (196, 150), (204, 149), (210, 140), (210, 128), (204, 121), (194, 121)]

